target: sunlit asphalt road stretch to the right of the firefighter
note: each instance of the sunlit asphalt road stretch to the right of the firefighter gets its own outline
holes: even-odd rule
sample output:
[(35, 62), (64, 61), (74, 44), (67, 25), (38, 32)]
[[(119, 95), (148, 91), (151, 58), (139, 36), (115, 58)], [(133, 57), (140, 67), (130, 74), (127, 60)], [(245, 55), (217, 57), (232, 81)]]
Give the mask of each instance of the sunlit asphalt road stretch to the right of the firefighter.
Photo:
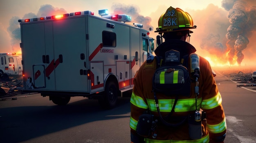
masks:
[(227, 121), (225, 143), (256, 143), (256, 90), (254, 87), (237, 87), (239, 82), (216, 76)]

